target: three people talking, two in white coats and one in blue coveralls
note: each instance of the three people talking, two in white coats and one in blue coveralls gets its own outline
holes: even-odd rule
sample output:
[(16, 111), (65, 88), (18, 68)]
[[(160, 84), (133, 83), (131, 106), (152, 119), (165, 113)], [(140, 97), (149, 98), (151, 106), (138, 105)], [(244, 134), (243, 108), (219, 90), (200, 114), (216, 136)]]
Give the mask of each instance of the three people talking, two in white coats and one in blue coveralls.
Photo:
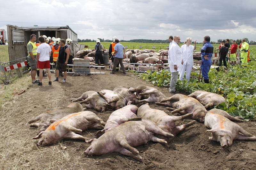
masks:
[[(178, 81), (178, 74), (180, 72), (180, 80), (183, 80), (184, 73), (186, 72), (186, 79), (189, 82), (191, 70), (193, 67), (193, 51), (196, 50), (196, 40), (194, 41), (194, 46), (191, 45), (192, 39), (188, 37), (181, 47), (180, 44), (180, 37), (179, 36), (170, 36), (169, 37), (170, 45), (168, 51), (168, 63), (171, 71), (171, 82), (170, 82), (170, 89), (171, 93), (179, 93), (175, 89), (175, 85)], [(213, 53), (213, 46), (210, 43), (210, 37), (204, 37), (204, 45), (201, 48), (201, 72), (202, 77), (204, 77), (204, 82), (209, 83), (209, 70), (212, 65), (212, 53)]]

